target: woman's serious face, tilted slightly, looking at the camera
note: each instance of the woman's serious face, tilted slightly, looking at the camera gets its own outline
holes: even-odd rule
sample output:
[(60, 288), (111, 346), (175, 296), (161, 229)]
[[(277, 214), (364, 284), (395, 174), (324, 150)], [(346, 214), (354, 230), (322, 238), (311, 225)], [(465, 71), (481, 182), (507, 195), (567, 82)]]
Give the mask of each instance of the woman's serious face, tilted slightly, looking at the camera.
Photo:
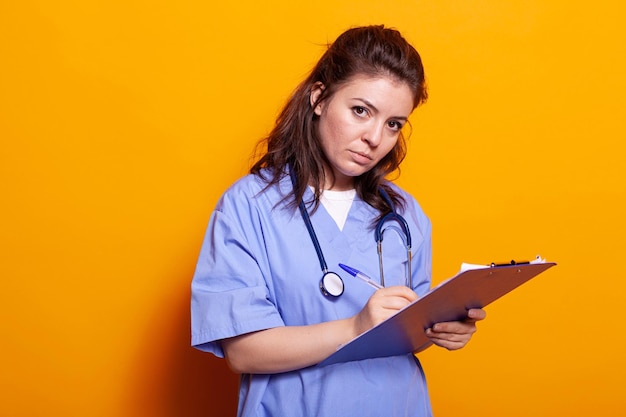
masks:
[[(311, 91), (311, 105), (323, 89), (319, 84)], [(332, 170), (326, 173), (329, 183), (324, 188), (349, 190), (354, 177), (372, 169), (394, 147), (413, 111), (413, 94), (406, 83), (393, 78), (357, 75), (314, 111)]]

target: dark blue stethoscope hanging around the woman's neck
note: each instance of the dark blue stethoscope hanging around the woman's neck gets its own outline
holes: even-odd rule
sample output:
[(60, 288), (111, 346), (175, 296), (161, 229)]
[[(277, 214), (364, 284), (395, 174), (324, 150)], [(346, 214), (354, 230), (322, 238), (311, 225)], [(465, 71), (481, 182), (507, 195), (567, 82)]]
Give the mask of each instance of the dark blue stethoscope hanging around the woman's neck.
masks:
[[(296, 179), (296, 174), (293, 169), (290, 169), (290, 176), (291, 176), (291, 184), (293, 185), (293, 188), (295, 189), (296, 184), (297, 184), (297, 179)], [(385, 233), (386, 229), (383, 229), (383, 226), (385, 225), (386, 222), (395, 221), (400, 225), (400, 229), (402, 233), (404, 234), (404, 238), (405, 238), (404, 242), (405, 242), (406, 251), (407, 251), (407, 271), (406, 271), (405, 284), (407, 287), (413, 288), (413, 279), (411, 277), (412, 275), (411, 274), (411, 271), (412, 271), (411, 259), (413, 256), (411, 253), (411, 232), (409, 231), (409, 225), (404, 219), (404, 217), (402, 217), (396, 212), (395, 205), (393, 204), (393, 201), (389, 197), (389, 194), (387, 194), (387, 192), (382, 187), (378, 188), (378, 192), (380, 193), (380, 196), (385, 200), (385, 202), (389, 205), (389, 207), (391, 207), (391, 212), (387, 213), (385, 216), (383, 216), (382, 219), (378, 221), (378, 223), (376, 224), (376, 228), (374, 230), (374, 238), (376, 240), (376, 251), (378, 252), (378, 266), (380, 268), (380, 284), (383, 287), (385, 286), (385, 273), (383, 271), (383, 234)], [(343, 291), (345, 288), (343, 284), (343, 280), (337, 273), (328, 270), (326, 259), (324, 259), (324, 253), (322, 252), (320, 242), (317, 239), (317, 235), (315, 234), (315, 229), (313, 229), (313, 224), (311, 223), (311, 217), (309, 216), (309, 212), (306, 209), (306, 205), (304, 204), (304, 201), (300, 201), (298, 208), (300, 209), (300, 214), (302, 215), (304, 224), (306, 225), (307, 231), (309, 232), (309, 236), (311, 237), (311, 242), (313, 242), (313, 246), (315, 247), (315, 252), (317, 253), (317, 259), (319, 260), (320, 267), (322, 269), (322, 279), (320, 280), (320, 284), (319, 284), (320, 291), (326, 297), (337, 298), (341, 294), (343, 294)]]

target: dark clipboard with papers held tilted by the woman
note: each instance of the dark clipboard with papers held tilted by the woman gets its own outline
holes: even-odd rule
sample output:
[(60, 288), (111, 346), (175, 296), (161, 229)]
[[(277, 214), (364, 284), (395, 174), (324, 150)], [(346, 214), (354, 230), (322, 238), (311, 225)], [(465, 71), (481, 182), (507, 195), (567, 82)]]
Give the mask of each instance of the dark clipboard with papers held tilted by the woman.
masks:
[(462, 320), (470, 308), (483, 308), (554, 262), (492, 266), (460, 272), (396, 314), (342, 345), (318, 364), (417, 353), (432, 345), (425, 330), (435, 323)]

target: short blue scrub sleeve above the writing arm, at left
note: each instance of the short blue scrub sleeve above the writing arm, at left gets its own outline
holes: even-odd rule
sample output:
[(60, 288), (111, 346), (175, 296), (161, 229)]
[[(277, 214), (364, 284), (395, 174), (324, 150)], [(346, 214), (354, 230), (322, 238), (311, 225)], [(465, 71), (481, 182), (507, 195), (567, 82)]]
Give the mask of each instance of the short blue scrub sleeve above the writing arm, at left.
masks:
[(191, 284), (191, 344), (219, 357), (221, 339), (284, 325), (244, 232), (251, 216), (234, 214), (213, 213)]

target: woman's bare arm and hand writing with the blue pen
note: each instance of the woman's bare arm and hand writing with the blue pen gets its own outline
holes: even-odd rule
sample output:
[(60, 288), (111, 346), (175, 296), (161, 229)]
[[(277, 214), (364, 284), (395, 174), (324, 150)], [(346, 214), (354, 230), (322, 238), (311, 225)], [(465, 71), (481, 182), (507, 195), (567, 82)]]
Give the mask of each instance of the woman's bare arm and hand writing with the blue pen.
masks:
[(223, 339), (230, 368), (237, 373), (278, 373), (314, 365), (359, 334), (390, 317), (417, 295), (403, 286), (376, 291), (353, 317), (308, 326), (285, 326)]

